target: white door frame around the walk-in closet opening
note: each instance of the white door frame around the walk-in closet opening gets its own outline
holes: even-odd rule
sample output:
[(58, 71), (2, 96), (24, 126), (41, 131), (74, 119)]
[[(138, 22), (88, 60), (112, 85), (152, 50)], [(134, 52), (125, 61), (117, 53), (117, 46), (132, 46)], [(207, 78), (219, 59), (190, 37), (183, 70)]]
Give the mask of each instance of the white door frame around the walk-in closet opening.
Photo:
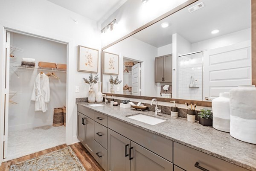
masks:
[(26, 35), (32, 35), (38, 38), (47, 39), (50, 41), (56, 41), (59, 43), (64, 43), (67, 45), (67, 87), (66, 87), (66, 106), (67, 106), (67, 114), (66, 114), (66, 144), (70, 145), (74, 141), (77, 141), (73, 137), (73, 107), (76, 106), (76, 101), (74, 99), (73, 83), (76, 70), (72, 70), (72, 66), (76, 66), (76, 60), (73, 60), (74, 55), (74, 43), (70, 38), (65, 38), (61, 35), (55, 35), (51, 32), (44, 32), (38, 29), (28, 28), (25, 26), (20, 26), (15, 23), (9, 23), (5, 21), (0, 21), (0, 165), (4, 161), (3, 159), (3, 131), (4, 131), (4, 94), (5, 88), (3, 84), (5, 83), (5, 67), (4, 67), (4, 56), (5, 56), (5, 33), (9, 32), (17, 32)]

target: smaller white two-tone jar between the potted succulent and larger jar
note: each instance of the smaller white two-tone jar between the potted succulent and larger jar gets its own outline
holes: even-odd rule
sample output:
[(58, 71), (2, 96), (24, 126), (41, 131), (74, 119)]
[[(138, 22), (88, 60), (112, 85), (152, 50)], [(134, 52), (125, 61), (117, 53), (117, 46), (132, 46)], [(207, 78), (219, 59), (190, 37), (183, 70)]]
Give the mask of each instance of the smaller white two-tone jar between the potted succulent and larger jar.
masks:
[(229, 93), (220, 93), (212, 100), (212, 127), (216, 130), (230, 132), (230, 99)]

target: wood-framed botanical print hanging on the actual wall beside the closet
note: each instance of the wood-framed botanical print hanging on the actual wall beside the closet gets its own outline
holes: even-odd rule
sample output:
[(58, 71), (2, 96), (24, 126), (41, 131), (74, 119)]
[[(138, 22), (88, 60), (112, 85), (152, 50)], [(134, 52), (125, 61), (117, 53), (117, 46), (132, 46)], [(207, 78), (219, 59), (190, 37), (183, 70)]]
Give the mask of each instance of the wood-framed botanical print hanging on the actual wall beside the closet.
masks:
[(78, 71), (98, 73), (99, 50), (78, 46)]

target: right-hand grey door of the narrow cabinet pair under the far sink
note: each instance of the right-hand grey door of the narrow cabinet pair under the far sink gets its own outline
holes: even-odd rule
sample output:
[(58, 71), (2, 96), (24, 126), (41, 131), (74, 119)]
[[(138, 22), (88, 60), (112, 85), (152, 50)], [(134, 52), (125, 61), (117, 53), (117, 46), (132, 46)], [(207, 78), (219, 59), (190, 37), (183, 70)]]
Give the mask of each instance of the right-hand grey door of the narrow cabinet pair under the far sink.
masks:
[(85, 134), (84, 134), (84, 147), (93, 155), (94, 144), (94, 120), (89, 117), (85, 118)]

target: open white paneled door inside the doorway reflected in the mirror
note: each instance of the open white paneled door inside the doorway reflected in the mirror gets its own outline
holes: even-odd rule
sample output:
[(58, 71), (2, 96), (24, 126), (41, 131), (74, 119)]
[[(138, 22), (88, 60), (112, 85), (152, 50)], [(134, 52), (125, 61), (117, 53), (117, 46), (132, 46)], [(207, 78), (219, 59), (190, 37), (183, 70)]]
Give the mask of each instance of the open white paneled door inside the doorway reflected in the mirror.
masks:
[(131, 93), (140, 96), (140, 62), (131, 68)]

